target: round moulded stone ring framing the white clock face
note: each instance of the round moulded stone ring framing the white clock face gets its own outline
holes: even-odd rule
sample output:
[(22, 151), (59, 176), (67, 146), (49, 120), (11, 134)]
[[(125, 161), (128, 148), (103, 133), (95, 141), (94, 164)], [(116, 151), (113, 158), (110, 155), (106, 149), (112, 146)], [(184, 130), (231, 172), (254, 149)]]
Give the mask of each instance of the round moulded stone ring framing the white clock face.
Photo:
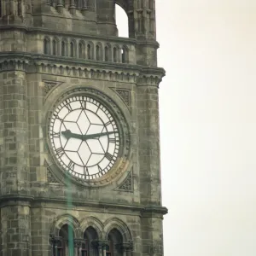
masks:
[[(111, 89), (109, 89), (111, 90)], [(89, 96), (100, 102), (105, 108), (108, 109), (109, 113), (113, 116), (119, 131), (119, 156), (113, 164), (112, 168), (104, 174), (102, 177), (97, 177), (91, 180), (81, 179), (75, 177), (61, 166), (59, 161), (55, 157), (55, 152), (50, 143), (49, 137), (49, 124), (52, 113), (55, 112), (55, 108), (67, 98), (72, 96)], [(61, 183), (69, 183), (67, 177), (77, 185), (90, 186), (90, 187), (101, 187), (106, 186), (109, 183), (113, 183), (113, 180), (119, 179), (122, 174), (127, 170), (131, 163), (131, 127), (127, 122), (125, 113), (119, 108), (118, 104), (114, 100), (102, 92), (101, 90), (91, 87), (75, 87), (70, 90), (62, 91), (62, 93), (56, 97), (56, 100), (49, 106), (46, 111), (46, 123), (44, 128), (44, 139), (47, 147), (48, 162), (50, 163), (51, 171), (54, 172), (57, 179)]]

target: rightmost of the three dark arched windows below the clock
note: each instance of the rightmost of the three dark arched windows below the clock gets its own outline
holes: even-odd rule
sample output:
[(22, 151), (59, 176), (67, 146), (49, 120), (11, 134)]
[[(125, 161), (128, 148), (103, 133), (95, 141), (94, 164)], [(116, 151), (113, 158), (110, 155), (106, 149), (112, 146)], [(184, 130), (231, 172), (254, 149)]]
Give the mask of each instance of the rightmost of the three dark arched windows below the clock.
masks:
[(113, 229), (108, 233), (108, 246), (106, 247), (106, 256), (122, 256), (121, 245), (123, 237), (119, 230)]

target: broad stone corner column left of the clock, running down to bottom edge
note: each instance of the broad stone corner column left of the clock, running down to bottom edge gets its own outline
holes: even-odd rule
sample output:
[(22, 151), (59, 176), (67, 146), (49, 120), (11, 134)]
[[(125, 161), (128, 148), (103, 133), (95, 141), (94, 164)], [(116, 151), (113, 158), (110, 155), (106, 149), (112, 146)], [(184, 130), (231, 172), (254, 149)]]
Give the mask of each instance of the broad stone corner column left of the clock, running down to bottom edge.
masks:
[(31, 217), (26, 64), (7, 60), (0, 74), (1, 236), (3, 255), (30, 255)]

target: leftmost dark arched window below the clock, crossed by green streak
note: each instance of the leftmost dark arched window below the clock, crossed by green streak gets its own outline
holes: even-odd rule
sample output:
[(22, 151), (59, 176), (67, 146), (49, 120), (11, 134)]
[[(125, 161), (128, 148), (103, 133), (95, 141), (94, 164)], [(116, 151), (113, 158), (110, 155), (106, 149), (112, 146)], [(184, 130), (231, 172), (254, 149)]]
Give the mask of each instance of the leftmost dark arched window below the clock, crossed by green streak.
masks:
[(74, 233), (70, 225), (64, 224), (61, 227), (59, 236), (62, 238), (61, 247), (58, 249), (58, 255), (56, 256), (73, 256), (74, 254)]

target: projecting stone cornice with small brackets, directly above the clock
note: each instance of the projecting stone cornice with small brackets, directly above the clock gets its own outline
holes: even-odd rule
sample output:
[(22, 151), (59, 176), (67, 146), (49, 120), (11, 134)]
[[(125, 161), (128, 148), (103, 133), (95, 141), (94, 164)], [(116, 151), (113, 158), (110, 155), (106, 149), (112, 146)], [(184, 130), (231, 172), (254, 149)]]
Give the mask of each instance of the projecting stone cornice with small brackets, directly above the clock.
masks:
[(122, 81), (138, 86), (156, 87), (159, 86), (161, 79), (165, 76), (165, 70), (160, 67), (74, 60), (68, 57), (23, 52), (0, 53), (0, 72), (12, 70), (74, 78)]

